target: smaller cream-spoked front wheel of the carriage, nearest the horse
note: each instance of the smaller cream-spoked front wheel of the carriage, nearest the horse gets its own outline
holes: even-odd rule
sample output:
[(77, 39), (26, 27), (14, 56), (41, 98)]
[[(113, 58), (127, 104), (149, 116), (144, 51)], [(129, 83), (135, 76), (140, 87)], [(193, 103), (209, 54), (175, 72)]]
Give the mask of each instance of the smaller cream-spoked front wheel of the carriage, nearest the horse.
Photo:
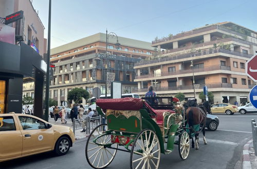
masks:
[(179, 135), (178, 142), (179, 142), (178, 144), (179, 156), (182, 160), (186, 160), (188, 158), (189, 151), (190, 151), (190, 138), (186, 131), (183, 131)]

